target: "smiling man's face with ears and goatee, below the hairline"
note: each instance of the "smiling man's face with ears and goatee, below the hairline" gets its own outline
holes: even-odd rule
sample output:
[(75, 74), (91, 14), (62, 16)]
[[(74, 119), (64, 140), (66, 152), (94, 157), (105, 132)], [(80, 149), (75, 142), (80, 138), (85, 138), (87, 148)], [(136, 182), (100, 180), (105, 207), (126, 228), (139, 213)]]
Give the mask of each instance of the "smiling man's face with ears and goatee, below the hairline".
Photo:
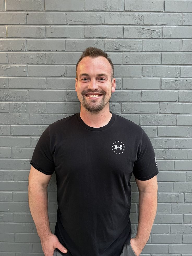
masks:
[(91, 113), (97, 113), (109, 107), (111, 93), (115, 91), (115, 78), (111, 81), (111, 65), (99, 56), (85, 57), (77, 67), (75, 91), (81, 107)]

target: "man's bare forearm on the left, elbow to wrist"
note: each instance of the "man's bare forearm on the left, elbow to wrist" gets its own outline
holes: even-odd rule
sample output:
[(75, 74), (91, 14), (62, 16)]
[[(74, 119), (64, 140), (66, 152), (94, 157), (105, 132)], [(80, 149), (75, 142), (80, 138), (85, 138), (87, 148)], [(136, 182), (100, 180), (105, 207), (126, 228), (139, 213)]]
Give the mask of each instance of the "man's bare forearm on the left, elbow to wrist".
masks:
[(40, 239), (46, 239), (51, 234), (48, 217), (47, 188), (28, 187), (29, 208), (33, 217), (37, 234)]

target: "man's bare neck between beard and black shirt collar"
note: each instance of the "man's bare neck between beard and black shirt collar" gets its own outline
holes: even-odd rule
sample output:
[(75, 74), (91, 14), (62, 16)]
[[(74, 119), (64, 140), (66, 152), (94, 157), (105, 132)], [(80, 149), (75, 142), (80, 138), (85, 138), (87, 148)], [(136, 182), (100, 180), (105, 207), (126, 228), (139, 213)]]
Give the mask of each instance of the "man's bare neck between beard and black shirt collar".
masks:
[(112, 114), (109, 111), (109, 106), (98, 113), (91, 113), (81, 106), (80, 117), (88, 126), (99, 128), (109, 123)]

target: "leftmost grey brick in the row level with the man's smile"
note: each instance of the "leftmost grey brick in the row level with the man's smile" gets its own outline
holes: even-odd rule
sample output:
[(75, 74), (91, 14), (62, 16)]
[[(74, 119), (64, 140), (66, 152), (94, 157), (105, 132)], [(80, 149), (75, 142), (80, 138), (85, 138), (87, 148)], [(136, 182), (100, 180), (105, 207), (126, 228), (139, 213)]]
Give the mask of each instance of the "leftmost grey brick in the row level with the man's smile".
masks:
[(2, 90), (0, 100), (28, 100), (27, 91)]

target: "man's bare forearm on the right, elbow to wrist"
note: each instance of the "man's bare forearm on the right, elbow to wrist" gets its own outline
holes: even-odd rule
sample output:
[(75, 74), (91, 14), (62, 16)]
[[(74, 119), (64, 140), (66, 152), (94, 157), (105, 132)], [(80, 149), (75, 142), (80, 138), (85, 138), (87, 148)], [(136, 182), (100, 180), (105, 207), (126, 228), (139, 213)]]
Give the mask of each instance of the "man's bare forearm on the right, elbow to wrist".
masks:
[(149, 240), (153, 222), (157, 212), (157, 193), (140, 192), (139, 193), (139, 217), (136, 240), (143, 249)]

